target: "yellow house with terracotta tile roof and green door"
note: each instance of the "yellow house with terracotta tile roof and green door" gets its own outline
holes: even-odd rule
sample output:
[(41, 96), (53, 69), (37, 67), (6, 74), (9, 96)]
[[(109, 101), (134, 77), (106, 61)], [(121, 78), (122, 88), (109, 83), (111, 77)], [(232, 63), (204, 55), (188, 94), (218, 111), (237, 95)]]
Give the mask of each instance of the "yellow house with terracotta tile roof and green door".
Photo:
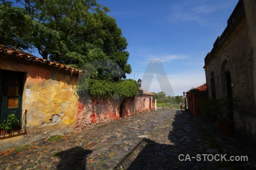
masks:
[(0, 134), (0, 150), (75, 129), (80, 72), (0, 45), (0, 121), (14, 113), (26, 131)]

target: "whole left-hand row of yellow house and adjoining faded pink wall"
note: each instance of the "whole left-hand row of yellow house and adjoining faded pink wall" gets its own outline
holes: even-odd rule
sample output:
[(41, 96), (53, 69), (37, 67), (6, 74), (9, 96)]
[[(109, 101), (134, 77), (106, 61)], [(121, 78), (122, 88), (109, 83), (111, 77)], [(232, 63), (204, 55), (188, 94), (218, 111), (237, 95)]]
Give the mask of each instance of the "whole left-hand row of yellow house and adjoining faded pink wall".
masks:
[(0, 124), (11, 113), (22, 122), (15, 133), (0, 131), (0, 151), (154, 108), (154, 94), (146, 91), (99, 101), (78, 96), (81, 72), (0, 45)]

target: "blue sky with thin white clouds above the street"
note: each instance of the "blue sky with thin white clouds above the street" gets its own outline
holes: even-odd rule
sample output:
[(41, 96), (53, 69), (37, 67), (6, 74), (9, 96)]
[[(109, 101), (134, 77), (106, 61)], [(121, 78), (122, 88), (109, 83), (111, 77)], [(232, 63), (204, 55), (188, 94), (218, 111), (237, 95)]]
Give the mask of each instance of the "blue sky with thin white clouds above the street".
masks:
[[(110, 8), (108, 15), (116, 20), (129, 43), (128, 62), (135, 80), (143, 78), (150, 60), (160, 60), (173, 90), (165, 92), (177, 96), (205, 83), (204, 58), (226, 28), (238, 0), (97, 2)], [(134, 79), (134, 73), (127, 78)], [(156, 76), (150, 85), (142, 81), (142, 88), (164, 91)]]

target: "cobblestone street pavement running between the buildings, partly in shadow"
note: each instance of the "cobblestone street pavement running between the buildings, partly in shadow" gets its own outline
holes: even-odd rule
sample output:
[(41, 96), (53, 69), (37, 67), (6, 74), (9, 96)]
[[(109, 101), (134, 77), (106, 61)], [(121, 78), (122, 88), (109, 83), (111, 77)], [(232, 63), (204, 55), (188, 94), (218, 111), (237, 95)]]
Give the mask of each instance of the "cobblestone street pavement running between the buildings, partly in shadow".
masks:
[[(7, 154), (6, 154), (7, 153)], [(184, 156), (180, 156), (183, 154)], [(209, 161), (216, 154), (244, 162)], [(183, 161), (179, 160), (184, 159)], [(197, 156), (196, 158), (192, 158)], [(201, 160), (199, 160), (199, 156)], [(216, 157), (221, 159), (221, 157)], [(0, 156), (1, 169), (256, 169), (255, 140), (221, 135), (188, 112), (152, 111), (15, 148)]]

